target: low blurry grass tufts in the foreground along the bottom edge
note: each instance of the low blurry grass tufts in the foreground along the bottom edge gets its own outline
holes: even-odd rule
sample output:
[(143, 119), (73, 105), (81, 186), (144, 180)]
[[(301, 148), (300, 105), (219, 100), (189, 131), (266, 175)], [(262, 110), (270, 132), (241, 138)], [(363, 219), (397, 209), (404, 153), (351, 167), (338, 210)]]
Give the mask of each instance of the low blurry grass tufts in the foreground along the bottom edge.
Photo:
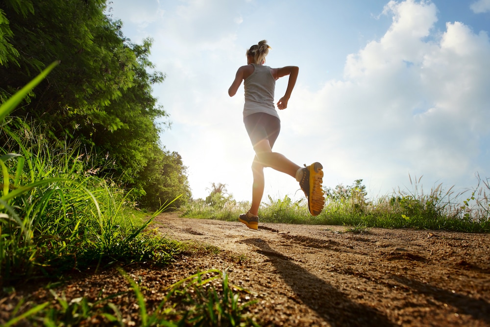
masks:
[[(64, 293), (50, 290), (53, 301), (33, 307), (20, 302), (14, 317), (3, 326), (12, 326), (21, 320), (46, 326), (126, 326), (128, 323), (145, 327), (257, 326), (246, 313), (246, 308), (256, 301), (250, 300), (247, 290), (229, 282), (226, 270), (211, 269), (181, 279), (166, 289), (161, 302), (153, 304), (147, 303), (144, 285), (123, 269), (119, 271), (129, 285), (125, 292), (91, 302), (85, 297), (69, 300)], [(133, 305), (139, 315), (128, 317), (121, 306), (111, 302), (123, 295), (134, 297)]]

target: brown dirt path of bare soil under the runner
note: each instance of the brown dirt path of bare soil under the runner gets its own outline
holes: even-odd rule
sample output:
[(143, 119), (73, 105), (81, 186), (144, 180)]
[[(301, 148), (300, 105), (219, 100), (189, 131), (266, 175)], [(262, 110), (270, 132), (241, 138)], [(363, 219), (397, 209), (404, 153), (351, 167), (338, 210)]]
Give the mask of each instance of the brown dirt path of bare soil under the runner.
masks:
[[(177, 214), (157, 217), (154, 227), (220, 251), (188, 253), (160, 269), (124, 267), (147, 303), (158, 304), (163, 289), (181, 278), (227, 268), (230, 283), (257, 301), (248, 310), (261, 326), (490, 326), (488, 234), (269, 223), (252, 230)], [(97, 299), (127, 287), (108, 270), (54, 290), (67, 299)], [(45, 287), (29, 292), (28, 302), (52, 299)], [(26, 293), (0, 299), (0, 311), (11, 311), (19, 296)], [(134, 325), (136, 300), (118, 301), (127, 302), (124, 322)]]

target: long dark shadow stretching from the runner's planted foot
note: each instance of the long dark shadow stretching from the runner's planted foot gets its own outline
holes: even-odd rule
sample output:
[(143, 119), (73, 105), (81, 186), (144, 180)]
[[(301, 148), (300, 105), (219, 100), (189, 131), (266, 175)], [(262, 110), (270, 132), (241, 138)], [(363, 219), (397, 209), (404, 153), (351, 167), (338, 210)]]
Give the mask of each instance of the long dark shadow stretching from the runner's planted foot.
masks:
[(345, 294), (295, 264), (289, 257), (276, 252), (260, 238), (250, 238), (244, 243), (259, 248), (258, 253), (269, 257), (284, 281), (297, 298), (318, 313), (332, 326), (394, 326), (378, 310), (353, 302)]

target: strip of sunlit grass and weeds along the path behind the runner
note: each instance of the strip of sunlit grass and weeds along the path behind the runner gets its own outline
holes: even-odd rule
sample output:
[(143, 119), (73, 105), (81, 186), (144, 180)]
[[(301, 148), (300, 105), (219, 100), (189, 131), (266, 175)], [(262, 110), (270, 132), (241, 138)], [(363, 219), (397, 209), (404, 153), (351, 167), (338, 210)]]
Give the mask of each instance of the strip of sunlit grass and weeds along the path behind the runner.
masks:
[[(419, 228), (444, 229), (471, 233), (490, 232), (490, 179), (478, 180), (467, 194), (455, 194), (452, 188), (444, 190), (437, 185), (424, 193), (421, 177), (410, 177), (412, 190), (393, 192), (392, 195), (368, 199), (362, 179), (352, 185), (324, 188), (325, 207), (319, 216), (308, 212), (306, 200), (272, 199), (262, 203), (260, 221), (264, 223), (345, 225), (349, 228)], [(206, 200), (189, 202), (184, 217), (214, 218), (236, 221), (239, 214), (249, 209), (248, 202), (238, 202), (232, 195), (214, 187)]]

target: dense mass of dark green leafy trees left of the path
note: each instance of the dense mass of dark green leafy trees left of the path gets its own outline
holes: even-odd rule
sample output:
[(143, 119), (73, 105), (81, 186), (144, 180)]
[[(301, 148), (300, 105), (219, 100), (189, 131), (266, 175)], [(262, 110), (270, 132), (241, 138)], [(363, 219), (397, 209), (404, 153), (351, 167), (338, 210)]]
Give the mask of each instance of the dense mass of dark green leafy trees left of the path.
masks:
[(168, 115), (151, 95), (165, 76), (148, 60), (151, 40), (132, 43), (105, 8), (106, 0), (2, 1), (0, 100), (59, 60), (12, 117), (51, 140), (77, 140), (98, 176), (134, 189), (147, 209), (183, 194), (180, 206), (191, 197), (186, 167), (158, 142)]

